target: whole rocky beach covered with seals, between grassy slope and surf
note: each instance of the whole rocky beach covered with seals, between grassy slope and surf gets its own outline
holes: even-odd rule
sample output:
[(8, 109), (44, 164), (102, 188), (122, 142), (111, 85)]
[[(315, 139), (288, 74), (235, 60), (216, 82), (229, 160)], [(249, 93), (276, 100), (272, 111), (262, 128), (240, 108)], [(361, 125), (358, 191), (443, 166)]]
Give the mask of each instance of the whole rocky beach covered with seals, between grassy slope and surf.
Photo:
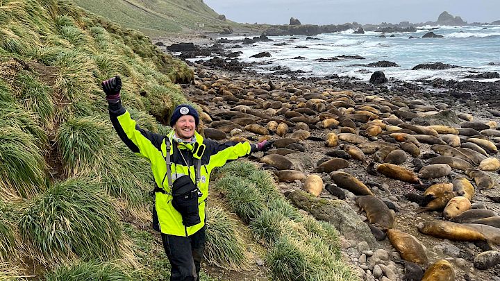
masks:
[[(195, 80), (182, 85), (203, 109), (201, 131), (220, 142), (274, 141), (275, 149), (250, 160), (273, 173), (302, 212), (335, 225), (342, 255), (362, 280), (421, 280), (443, 259), (441, 269), (449, 264), (456, 276), (437, 272), (449, 275), (443, 280), (499, 280), (500, 230), (458, 234), (467, 223), (495, 225), (478, 221), (485, 217), (478, 212), (500, 214), (498, 82), (258, 74), (243, 71), (245, 63), (222, 46), (244, 40), (158, 42), (180, 58), (217, 56), (188, 62)], [(472, 194), (458, 180), (474, 187)], [(366, 195), (375, 201), (363, 203)], [(466, 210), (472, 219), (458, 216)]]

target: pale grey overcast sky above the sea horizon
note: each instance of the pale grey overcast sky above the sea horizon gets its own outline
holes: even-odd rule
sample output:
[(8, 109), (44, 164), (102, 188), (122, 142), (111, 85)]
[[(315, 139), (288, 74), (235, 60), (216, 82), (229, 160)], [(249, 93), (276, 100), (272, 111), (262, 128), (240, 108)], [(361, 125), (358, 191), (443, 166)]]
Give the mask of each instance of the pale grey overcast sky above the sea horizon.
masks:
[(204, 0), (235, 22), (289, 24), (380, 24), (436, 21), (441, 12), (466, 22), (500, 20), (499, 0)]

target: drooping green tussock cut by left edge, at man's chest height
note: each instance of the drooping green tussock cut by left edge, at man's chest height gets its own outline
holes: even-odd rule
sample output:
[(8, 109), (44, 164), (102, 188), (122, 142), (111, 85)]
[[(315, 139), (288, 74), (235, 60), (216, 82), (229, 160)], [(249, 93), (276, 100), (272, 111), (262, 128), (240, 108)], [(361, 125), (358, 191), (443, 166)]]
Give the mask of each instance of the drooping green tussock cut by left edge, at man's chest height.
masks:
[(42, 153), (32, 135), (17, 127), (0, 127), (0, 197), (33, 196), (44, 189), (46, 164)]

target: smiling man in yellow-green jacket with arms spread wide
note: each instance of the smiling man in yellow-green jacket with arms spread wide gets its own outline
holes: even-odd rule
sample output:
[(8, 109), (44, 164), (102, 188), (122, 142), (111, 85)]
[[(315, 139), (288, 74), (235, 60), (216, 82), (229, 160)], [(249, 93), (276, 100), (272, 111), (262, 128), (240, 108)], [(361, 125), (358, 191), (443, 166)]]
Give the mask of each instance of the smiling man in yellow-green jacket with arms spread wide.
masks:
[(120, 101), (119, 76), (102, 83), (111, 122), (120, 139), (134, 153), (151, 162), (156, 181), (156, 213), (163, 247), (172, 265), (172, 281), (199, 280), (205, 248), (205, 205), (210, 172), (228, 160), (267, 151), (272, 142), (227, 142), (203, 139), (195, 130), (198, 112), (179, 105), (170, 119), (173, 130), (159, 135), (139, 128)]

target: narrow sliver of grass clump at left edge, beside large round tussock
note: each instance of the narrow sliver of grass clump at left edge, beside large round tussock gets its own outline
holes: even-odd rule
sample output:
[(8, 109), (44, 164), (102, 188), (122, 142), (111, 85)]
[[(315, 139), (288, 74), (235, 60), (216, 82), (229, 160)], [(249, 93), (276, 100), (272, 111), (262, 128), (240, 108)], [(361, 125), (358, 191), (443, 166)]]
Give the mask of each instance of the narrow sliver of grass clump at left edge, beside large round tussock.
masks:
[(12, 217), (14, 213), (8, 206), (0, 200), (0, 262), (8, 261), (8, 257), (15, 247), (14, 223)]

